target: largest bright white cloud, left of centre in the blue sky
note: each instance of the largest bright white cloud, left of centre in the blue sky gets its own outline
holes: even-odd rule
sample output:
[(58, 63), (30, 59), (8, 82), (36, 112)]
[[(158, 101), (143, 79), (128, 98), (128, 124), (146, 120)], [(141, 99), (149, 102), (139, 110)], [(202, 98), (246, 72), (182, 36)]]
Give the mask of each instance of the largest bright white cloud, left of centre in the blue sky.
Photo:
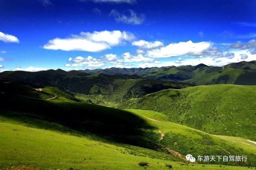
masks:
[(69, 38), (52, 39), (44, 45), (44, 49), (100, 52), (124, 44), (126, 41), (132, 41), (134, 38), (132, 33), (118, 30), (81, 32), (80, 35), (71, 35)]

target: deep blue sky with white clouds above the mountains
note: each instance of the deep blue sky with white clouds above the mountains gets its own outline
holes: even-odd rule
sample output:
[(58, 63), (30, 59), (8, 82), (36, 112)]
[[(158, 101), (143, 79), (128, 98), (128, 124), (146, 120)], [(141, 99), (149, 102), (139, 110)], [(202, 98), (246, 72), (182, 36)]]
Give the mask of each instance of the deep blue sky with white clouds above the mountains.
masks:
[(0, 0), (0, 71), (256, 60), (255, 0)]

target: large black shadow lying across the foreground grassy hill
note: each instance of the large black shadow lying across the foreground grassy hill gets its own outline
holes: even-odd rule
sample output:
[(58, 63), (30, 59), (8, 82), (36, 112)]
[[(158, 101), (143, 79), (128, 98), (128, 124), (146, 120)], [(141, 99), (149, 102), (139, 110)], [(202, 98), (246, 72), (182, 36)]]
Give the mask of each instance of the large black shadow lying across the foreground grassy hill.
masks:
[(115, 142), (153, 148), (149, 143), (143, 142), (146, 137), (144, 131), (156, 127), (128, 111), (82, 102), (46, 101), (10, 93), (0, 94), (0, 98), (4, 99), (0, 114), (6, 117), (17, 119), (19, 115), (11, 112), (18, 112), (20, 119), (41, 119), (82, 133), (106, 136)]

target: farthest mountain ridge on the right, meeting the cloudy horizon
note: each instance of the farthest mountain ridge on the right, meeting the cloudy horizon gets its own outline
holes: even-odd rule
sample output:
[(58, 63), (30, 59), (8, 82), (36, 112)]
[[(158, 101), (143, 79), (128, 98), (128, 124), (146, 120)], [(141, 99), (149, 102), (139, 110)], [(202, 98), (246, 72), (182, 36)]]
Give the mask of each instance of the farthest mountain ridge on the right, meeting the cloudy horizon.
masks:
[(136, 74), (144, 78), (188, 82), (194, 85), (240, 84), (256, 85), (256, 61), (241, 61), (225, 66), (166, 66), (146, 68), (106, 68), (96, 70), (80, 70), (88, 74)]

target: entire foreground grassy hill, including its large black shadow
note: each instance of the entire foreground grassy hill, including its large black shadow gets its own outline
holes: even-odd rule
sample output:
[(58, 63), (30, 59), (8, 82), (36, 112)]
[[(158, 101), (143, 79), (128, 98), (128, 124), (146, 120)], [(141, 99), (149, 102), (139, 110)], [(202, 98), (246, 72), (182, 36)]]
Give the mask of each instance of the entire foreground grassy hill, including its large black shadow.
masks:
[[(4, 84), (5, 85), (5, 84)], [(247, 169), (256, 166), (253, 143), (166, 121), (153, 111), (120, 110), (70, 100), (56, 88), (2, 86), (1, 168), (40, 169)], [(39, 95), (28, 95), (36, 91)], [(39, 91), (38, 91), (39, 90)], [(25, 93), (23, 93), (25, 92)], [(58, 98), (47, 100), (58, 94)], [(42, 94), (42, 95), (41, 95)], [(15, 107), (14, 107), (15, 106)], [(159, 133), (161, 131), (161, 133)], [(187, 153), (247, 155), (247, 162), (195, 164)], [(60, 163), (61, 162), (61, 163)], [(213, 163), (213, 162), (212, 162)], [(227, 166), (232, 165), (232, 166)]]

